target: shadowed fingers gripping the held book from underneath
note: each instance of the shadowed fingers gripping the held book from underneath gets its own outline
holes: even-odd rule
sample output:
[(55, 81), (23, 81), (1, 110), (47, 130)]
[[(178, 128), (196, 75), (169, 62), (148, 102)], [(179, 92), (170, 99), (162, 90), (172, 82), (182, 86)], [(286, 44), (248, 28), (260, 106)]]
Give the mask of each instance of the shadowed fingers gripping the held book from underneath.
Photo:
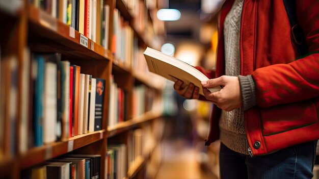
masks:
[(190, 85), (182, 88), (183, 81), (178, 80), (174, 84), (174, 89), (176, 92), (181, 95), (184, 98), (187, 99), (198, 99), (199, 98), (199, 88), (195, 86), (193, 83), (190, 83)]

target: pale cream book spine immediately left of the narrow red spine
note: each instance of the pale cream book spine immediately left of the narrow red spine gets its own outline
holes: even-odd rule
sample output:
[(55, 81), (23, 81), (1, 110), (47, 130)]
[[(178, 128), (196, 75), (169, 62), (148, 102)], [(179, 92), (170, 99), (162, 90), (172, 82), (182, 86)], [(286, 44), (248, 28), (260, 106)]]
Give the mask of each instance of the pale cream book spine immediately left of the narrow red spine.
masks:
[(69, 136), (69, 120), (70, 120), (70, 62), (61, 61), (61, 122), (62, 122), (62, 134), (61, 140), (66, 141)]

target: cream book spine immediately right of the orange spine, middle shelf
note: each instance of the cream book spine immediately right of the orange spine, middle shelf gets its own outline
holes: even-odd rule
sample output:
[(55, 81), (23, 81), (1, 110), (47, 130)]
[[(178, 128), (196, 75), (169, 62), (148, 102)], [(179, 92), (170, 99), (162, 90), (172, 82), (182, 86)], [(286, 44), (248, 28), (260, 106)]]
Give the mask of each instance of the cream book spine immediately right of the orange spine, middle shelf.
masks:
[(78, 90), (78, 135), (83, 134), (83, 121), (84, 121), (84, 87), (85, 87), (85, 74), (81, 73), (79, 78)]

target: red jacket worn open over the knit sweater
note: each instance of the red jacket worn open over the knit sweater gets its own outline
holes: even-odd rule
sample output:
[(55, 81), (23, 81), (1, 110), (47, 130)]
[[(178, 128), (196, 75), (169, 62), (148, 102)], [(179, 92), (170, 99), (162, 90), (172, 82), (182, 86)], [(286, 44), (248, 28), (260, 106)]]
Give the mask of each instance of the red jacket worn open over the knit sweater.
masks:
[[(232, 4), (226, 1), (221, 11), (216, 76), (208, 72), (209, 78), (225, 74), (223, 24)], [(256, 86), (257, 104), (245, 111), (253, 155), (319, 138), (319, 1), (300, 0), (296, 7), (311, 54), (299, 60), (283, 1), (244, 1), (241, 75), (251, 74)], [(208, 145), (219, 138), (220, 114), (214, 106)]]

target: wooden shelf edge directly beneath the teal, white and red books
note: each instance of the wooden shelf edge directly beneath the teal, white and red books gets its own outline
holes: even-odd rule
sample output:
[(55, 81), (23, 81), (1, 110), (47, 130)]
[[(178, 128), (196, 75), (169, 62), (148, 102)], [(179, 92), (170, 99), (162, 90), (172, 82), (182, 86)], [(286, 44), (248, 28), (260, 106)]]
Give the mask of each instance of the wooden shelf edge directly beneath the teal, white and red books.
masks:
[(103, 139), (105, 130), (96, 131), (89, 134), (71, 137), (65, 142), (56, 142), (34, 147), (25, 154), (21, 155), (20, 168), (25, 169), (40, 164), (48, 159), (52, 159), (77, 148), (94, 143)]

